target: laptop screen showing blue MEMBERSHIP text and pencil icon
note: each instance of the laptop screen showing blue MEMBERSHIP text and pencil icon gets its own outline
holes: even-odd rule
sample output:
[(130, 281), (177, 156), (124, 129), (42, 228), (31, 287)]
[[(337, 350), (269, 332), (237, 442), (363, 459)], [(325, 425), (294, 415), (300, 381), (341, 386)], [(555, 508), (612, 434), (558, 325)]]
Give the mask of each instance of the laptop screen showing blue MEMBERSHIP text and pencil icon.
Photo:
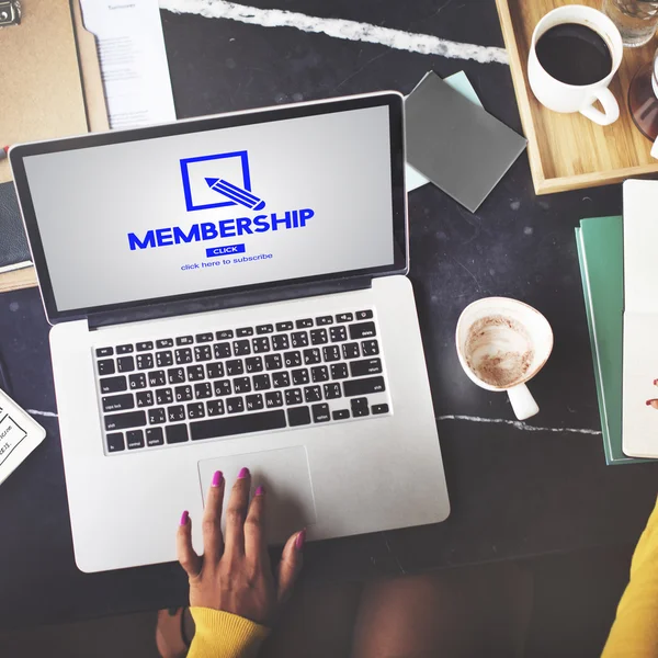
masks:
[(396, 260), (388, 103), (26, 155), (23, 167), (57, 311)]

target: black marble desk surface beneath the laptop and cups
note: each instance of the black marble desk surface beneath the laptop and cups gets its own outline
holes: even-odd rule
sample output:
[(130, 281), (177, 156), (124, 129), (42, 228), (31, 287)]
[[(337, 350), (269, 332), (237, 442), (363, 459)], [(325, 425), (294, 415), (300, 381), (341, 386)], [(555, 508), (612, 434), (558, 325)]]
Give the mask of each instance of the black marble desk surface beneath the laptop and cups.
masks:
[[(494, 0), (257, 4), (502, 45)], [(429, 69), (442, 77), (465, 70), (485, 107), (521, 131), (502, 64), (168, 11), (162, 21), (179, 117), (381, 89), (408, 93)], [(636, 541), (656, 499), (658, 468), (605, 466), (574, 239), (579, 218), (621, 208), (620, 185), (535, 196), (525, 155), (474, 215), (433, 185), (410, 194), (411, 280), (452, 515), (440, 525), (311, 544), (307, 578), (372, 578)], [(527, 302), (555, 331), (553, 356), (531, 385), (542, 410), (527, 424), (542, 430), (511, 423), (506, 396), (473, 385), (457, 362), (458, 314), (488, 295)], [(16, 401), (55, 411), (48, 326), (36, 288), (0, 296), (0, 350)], [(450, 418), (455, 415), (467, 418)], [(0, 487), (0, 625), (185, 601), (175, 565), (77, 570), (57, 419), (39, 420), (46, 441)]]

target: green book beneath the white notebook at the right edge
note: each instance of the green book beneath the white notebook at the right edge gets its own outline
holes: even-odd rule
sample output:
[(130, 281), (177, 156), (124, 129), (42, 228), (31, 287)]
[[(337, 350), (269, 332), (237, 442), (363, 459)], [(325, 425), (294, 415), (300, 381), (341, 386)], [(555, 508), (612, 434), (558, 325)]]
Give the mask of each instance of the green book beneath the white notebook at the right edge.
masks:
[(622, 217), (581, 219), (576, 245), (592, 348), (606, 464), (637, 464), (622, 451), (624, 232)]

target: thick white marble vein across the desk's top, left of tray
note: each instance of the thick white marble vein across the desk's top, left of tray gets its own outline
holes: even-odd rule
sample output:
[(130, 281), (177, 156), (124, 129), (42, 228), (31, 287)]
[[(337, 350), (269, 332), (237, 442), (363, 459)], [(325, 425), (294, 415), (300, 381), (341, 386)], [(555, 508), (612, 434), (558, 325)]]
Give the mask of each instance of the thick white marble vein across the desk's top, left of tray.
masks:
[(229, 19), (263, 27), (295, 27), (303, 32), (327, 34), (334, 38), (381, 44), (398, 50), (439, 55), (451, 59), (473, 59), (481, 64), (509, 64), (504, 48), (463, 44), (431, 34), (413, 34), (371, 23), (342, 19), (322, 19), (281, 9), (258, 9), (226, 0), (160, 0), (160, 9), (173, 13), (193, 13), (207, 19)]

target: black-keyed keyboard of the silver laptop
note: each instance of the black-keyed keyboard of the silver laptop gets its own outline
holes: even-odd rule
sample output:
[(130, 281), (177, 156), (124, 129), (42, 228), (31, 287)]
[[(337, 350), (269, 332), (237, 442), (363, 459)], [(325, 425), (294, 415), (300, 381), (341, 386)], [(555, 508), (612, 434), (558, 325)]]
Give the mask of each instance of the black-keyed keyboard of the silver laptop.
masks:
[(106, 453), (390, 412), (372, 310), (94, 349)]

